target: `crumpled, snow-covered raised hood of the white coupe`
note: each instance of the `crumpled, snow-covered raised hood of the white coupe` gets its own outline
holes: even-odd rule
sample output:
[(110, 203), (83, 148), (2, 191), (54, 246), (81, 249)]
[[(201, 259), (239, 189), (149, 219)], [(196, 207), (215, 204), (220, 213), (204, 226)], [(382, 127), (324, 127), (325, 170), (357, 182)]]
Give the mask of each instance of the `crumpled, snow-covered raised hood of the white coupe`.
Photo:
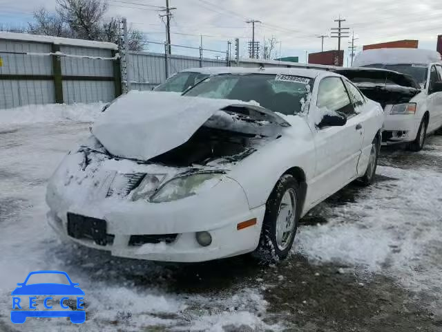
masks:
[(93, 135), (113, 155), (148, 160), (189, 140), (213, 113), (239, 100), (131, 91), (95, 122)]

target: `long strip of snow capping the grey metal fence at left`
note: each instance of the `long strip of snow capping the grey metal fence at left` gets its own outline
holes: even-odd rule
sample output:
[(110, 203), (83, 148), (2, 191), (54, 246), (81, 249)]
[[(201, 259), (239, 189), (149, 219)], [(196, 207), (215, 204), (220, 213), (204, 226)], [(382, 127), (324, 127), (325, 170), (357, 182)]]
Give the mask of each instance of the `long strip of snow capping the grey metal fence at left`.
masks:
[(95, 42), (93, 40), (62, 38), (52, 36), (29, 35), (28, 33), (6, 33), (0, 31), (0, 39), (18, 40), (23, 42), (50, 43), (58, 45), (81, 46), (91, 48), (108, 48), (117, 50), (118, 46), (108, 42)]

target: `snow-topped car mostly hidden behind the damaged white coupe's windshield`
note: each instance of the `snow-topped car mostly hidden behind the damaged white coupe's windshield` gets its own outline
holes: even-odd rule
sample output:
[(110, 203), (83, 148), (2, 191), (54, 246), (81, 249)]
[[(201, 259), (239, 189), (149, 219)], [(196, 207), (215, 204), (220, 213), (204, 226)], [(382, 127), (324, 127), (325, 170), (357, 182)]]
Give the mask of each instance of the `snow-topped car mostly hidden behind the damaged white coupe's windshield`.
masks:
[(184, 69), (184, 71), (180, 71), (169, 77), (166, 82), (156, 86), (153, 91), (181, 93), (210, 75), (229, 73), (230, 70), (231, 67), (201, 67)]

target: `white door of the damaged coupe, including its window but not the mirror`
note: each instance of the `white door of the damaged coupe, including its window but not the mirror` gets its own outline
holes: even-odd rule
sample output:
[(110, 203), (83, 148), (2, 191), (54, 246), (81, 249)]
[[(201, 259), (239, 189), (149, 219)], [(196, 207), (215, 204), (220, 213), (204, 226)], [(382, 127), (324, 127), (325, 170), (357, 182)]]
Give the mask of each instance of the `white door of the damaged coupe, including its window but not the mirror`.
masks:
[(347, 116), (344, 126), (321, 127), (316, 123), (312, 129), (316, 146), (316, 168), (311, 190), (316, 194), (310, 199), (314, 205), (356, 178), (364, 129), (340, 77), (329, 76), (320, 80), (316, 107), (311, 111), (338, 111)]

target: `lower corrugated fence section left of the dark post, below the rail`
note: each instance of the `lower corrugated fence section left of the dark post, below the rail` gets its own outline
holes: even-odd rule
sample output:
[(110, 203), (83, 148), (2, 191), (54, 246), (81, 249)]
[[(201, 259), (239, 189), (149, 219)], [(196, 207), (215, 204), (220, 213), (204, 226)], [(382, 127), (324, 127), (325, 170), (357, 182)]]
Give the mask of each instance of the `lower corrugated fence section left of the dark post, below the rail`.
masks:
[(0, 80), (0, 109), (55, 102), (54, 83), (48, 80)]

